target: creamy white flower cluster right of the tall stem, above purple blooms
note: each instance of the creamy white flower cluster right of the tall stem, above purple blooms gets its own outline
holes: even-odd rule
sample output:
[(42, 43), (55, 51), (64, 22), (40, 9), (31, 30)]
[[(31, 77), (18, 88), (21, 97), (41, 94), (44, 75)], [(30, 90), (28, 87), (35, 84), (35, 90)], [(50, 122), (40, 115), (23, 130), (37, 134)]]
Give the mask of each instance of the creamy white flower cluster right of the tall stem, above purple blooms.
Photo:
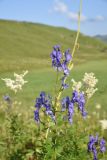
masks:
[(94, 73), (85, 73), (82, 82), (76, 82), (74, 79), (71, 81), (73, 82), (72, 89), (80, 92), (81, 88), (83, 88), (88, 99), (91, 98), (92, 95), (98, 90), (95, 88), (98, 79), (96, 79)]

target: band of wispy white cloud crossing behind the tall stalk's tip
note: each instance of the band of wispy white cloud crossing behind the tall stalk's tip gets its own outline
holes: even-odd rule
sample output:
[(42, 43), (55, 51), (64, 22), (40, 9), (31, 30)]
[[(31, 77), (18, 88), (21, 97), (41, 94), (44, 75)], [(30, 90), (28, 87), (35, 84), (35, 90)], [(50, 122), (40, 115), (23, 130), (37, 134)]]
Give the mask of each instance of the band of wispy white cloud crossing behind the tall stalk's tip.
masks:
[[(107, 0), (105, 0), (105, 1), (107, 1)], [(68, 9), (68, 6), (60, 0), (55, 0), (53, 9), (49, 10), (49, 12), (57, 12), (57, 13), (65, 15), (69, 20), (72, 20), (75, 22), (78, 21), (78, 13), (71, 12)], [(106, 18), (102, 15), (98, 15), (98, 16), (92, 17), (92, 18), (89, 18), (83, 14), (81, 15), (81, 22), (93, 22), (94, 23), (94, 22), (104, 21), (105, 19)]]

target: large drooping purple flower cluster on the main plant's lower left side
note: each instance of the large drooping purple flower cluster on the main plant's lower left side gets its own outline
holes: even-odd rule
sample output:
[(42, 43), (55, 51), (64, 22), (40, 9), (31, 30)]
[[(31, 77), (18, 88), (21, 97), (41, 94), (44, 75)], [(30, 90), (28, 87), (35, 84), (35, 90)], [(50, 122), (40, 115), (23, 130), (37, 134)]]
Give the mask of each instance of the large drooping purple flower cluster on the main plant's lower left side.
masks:
[(55, 121), (55, 116), (51, 107), (51, 97), (49, 95), (46, 95), (45, 92), (41, 92), (40, 96), (36, 98), (35, 108), (36, 111), (34, 111), (34, 114), (35, 114), (35, 120), (37, 122), (40, 122), (39, 118), (40, 108), (45, 108), (45, 113), (49, 115), (53, 121)]

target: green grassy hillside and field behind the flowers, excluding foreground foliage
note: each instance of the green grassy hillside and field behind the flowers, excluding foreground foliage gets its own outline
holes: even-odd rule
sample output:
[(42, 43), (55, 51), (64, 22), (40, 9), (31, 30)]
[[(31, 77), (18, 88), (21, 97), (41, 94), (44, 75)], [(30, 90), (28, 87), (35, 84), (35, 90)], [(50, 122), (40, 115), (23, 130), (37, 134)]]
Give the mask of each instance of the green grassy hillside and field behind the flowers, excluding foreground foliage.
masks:
[[(0, 20), (0, 78), (12, 77), (13, 72), (29, 70), (24, 91), (17, 96), (25, 105), (34, 104), (41, 90), (53, 93), (55, 72), (51, 68), (50, 52), (52, 46), (60, 44), (62, 49), (73, 47), (76, 32), (41, 24)], [(93, 110), (100, 103), (107, 111), (107, 45), (103, 42), (80, 35), (79, 50), (74, 58), (74, 70), (70, 78), (81, 80), (85, 72), (95, 72), (99, 79), (99, 91), (92, 98)], [(70, 79), (69, 78), (69, 79)], [(0, 81), (0, 99), (9, 90)], [(68, 89), (65, 94), (70, 93)], [(26, 103), (26, 100), (27, 103)]]

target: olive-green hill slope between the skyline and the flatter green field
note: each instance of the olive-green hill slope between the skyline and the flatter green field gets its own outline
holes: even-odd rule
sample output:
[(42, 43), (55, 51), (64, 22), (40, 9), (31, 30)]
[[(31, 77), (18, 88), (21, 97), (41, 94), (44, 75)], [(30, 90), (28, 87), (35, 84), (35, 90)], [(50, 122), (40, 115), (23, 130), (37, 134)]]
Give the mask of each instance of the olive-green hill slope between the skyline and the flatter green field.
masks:
[[(41, 24), (0, 20), (0, 72), (50, 66), (52, 46), (73, 47), (76, 32)], [(80, 35), (75, 62), (107, 58), (107, 45)]]

